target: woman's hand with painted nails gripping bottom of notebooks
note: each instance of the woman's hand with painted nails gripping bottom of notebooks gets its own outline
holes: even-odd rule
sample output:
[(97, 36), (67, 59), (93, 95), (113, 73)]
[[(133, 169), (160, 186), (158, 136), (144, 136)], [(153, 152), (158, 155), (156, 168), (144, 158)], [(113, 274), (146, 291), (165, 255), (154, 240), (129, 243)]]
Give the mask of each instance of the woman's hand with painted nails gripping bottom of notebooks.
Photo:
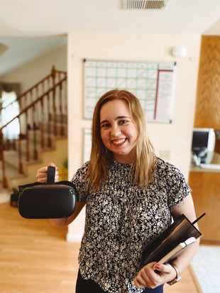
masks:
[(138, 288), (155, 288), (165, 284), (176, 277), (175, 269), (171, 265), (162, 265), (157, 262), (150, 262), (145, 265), (134, 279)]

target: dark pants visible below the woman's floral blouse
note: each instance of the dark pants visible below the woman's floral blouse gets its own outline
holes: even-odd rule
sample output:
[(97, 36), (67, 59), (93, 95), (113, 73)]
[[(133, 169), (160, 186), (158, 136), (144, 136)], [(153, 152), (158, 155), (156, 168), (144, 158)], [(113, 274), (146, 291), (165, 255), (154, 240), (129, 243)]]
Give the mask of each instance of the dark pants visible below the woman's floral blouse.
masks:
[[(92, 281), (92, 280), (84, 280), (82, 278), (82, 275), (80, 272), (78, 272), (78, 277), (77, 277), (77, 285), (76, 285), (76, 293), (89, 293), (89, 292), (95, 292), (95, 293), (106, 293), (99, 287), (99, 285)], [(143, 293), (163, 293), (163, 285), (155, 288), (155, 289), (149, 289), (145, 288)]]

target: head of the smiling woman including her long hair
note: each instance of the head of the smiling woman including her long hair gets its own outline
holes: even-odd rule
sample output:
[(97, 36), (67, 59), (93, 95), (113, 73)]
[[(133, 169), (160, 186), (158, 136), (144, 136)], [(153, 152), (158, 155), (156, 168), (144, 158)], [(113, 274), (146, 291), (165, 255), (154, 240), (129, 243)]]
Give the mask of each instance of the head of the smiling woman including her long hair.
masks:
[[(111, 138), (108, 137), (109, 129), (113, 131)], [(122, 130), (124, 133), (121, 133)], [(117, 156), (119, 162), (133, 163), (131, 174), (133, 173), (134, 180), (140, 186), (148, 184), (153, 179), (155, 151), (148, 138), (140, 101), (131, 92), (113, 89), (101, 96), (94, 109), (92, 133), (90, 166), (93, 167), (89, 167), (89, 172), (95, 188), (100, 182), (104, 182), (108, 165), (113, 159), (116, 160)], [(116, 145), (116, 137), (114, 137), (112, 143), (112, 134), (120, 136), (119, 138), (124, 141), (119, 140), (120, 144)], [(106, 153), (108, 149), (109, 152)], [(148, 164), (145, 164), (146, 160)]]

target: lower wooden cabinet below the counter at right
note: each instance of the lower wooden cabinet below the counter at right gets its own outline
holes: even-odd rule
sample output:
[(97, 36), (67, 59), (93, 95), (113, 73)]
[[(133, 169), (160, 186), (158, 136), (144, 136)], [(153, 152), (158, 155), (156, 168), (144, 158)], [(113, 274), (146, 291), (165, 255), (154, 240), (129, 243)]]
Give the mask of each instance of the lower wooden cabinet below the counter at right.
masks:
[(197, 216), (206, 215), (199, 221), (203, 234), (202, 244), (220, 244), (220, 172), (191, 170), (189, 186)]

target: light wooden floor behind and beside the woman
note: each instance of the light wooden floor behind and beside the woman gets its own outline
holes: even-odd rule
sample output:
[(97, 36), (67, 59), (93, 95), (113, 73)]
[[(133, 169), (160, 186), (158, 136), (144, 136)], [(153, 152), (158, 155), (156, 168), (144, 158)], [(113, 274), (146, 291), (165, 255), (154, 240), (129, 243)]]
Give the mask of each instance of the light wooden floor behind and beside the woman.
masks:
[[(74, 293), (79, 243), (67, 243), (66, 233), (0, 204), (0, 293)], [(165, 293), (172, 292), (199, 292), (189, 270), (178, 284), (165, 284)]]

